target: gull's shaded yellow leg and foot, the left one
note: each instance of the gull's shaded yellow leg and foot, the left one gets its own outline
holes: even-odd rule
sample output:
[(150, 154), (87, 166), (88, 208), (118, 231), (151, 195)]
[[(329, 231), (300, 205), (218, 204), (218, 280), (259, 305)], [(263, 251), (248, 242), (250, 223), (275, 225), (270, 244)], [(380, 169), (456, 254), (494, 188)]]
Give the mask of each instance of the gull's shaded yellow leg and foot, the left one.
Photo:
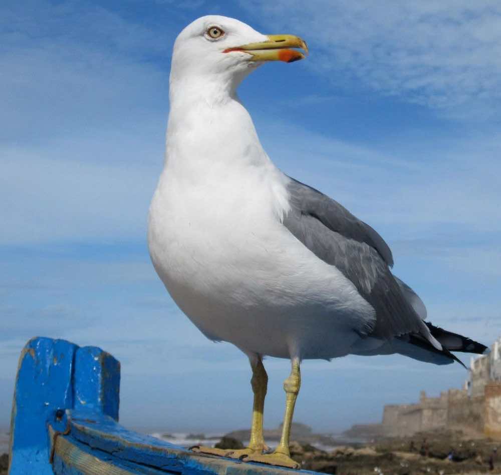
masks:
[(250, 426), (250, 441), (247, 448), (233, 450), (227, 454), (231, 458), (242, 458), (250, 454), (262, 454), (268, 447), (263, 437), (263, 413), (265, 410), (265, 396), (268, 389), (268, 374), (266, 374), (263, 360), (260, 356), (250, 358), (252, 378), (250, 385), (254, 392), (252, 411), (252, 425)]

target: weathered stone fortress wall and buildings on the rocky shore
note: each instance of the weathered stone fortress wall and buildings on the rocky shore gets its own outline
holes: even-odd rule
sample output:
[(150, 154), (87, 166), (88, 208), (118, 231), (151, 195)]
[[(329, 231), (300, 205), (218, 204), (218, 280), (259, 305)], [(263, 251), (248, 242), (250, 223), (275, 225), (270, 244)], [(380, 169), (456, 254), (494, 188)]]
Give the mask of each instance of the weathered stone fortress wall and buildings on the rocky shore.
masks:
[(501, 337), (490, 350), (471, 358), (462, 389), (449, 389), (438, 397), (421, 391), (416, 404), (386, 405), (381, 432), (402, 436), (448, 428), (501, 439)]

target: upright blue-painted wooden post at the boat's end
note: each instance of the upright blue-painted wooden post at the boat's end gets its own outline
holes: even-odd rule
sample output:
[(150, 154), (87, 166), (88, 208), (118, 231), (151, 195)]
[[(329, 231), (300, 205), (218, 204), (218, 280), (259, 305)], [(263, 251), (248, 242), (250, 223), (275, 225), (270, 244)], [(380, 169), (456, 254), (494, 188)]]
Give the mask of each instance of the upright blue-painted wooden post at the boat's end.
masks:
[[(100, 348), (33, 338), (21, 352), (11, 417), (10, 475), (53, 473), (47, 424), (63, 432), (65, 409), (118, 420), (120, 363)], [(77, 399), (78, 398), (78, 399)]]

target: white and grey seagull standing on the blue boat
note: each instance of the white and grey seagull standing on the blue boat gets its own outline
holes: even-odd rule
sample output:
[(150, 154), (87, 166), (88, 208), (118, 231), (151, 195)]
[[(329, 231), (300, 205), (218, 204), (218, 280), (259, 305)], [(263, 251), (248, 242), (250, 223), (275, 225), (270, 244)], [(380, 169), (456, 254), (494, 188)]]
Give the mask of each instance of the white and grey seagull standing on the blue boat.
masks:
[[(299, 50), (303, 50), (302, 53)], [(254, 392), (250, 443), (203, 453), (297, 467), (289, 452), (304, 359), (400, 353), (435, 364), (486, 347), (425, 321), (391, 272), (383, 238), (341, 204), (279, 170), (236, 90), (271, 61), (305, 58), (293, 35), (205, 16), (177, 37), (164, 169), (148, 222), (151, 260), (180, 309), (214, 341), (245, 353)], [(267, 452), (263, 358), (289, 358), (280, 443)]]

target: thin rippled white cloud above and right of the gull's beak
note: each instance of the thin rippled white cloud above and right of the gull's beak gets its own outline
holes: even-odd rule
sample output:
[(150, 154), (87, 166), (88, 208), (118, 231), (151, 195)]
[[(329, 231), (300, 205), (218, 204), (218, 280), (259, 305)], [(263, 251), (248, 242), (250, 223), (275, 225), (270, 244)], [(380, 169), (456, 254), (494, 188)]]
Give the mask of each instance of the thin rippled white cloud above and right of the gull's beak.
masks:
[(501, 6), (496, 0), (241, 5), (273, 31), (303, 36), (311, 44), (309, 67), (337, 86), (348, 89), (359, 81), (455, 117), (498, 114)]

